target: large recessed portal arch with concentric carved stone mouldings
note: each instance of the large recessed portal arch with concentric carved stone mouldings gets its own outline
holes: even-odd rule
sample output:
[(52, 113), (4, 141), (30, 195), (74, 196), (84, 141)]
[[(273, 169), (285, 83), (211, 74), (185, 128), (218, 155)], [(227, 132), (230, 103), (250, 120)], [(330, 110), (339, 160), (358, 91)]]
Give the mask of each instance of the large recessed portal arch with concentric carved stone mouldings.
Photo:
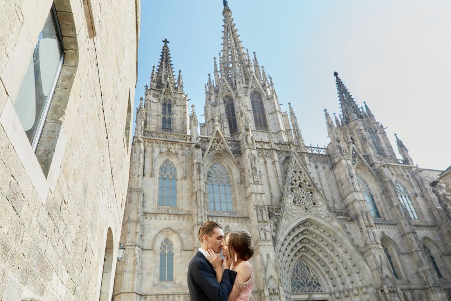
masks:
[(374, 287), (368, 278), (371, 272), (343, 233), (308, 215), (288, 225), (280, 237), (276, 254), (286, 291), (290, 291), (293, 266), (304, 259), (323, 275), (326, 293), (338, 298), (340, 291), (349, 294), (357, 290), (362, 298), (374, 299)]

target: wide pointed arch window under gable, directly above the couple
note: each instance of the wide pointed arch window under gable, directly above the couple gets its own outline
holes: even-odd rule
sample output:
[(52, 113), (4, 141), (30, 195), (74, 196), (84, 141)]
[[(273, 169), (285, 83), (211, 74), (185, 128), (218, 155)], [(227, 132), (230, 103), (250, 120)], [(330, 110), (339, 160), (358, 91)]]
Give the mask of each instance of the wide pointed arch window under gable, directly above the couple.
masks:
[(229, 173), (219, 162), (208, 169), (208, 208), (212, 211), (232, 211), (232, 193)]

